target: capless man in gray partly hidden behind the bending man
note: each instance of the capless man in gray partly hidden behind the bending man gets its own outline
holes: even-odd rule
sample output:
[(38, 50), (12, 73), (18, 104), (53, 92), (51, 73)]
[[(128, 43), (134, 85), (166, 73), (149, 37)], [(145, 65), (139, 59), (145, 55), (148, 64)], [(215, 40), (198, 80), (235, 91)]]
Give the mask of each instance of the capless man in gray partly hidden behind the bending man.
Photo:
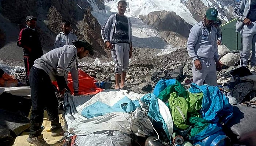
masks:
[[(62, 23), (62, 32), (60, 32), (55, 40), (54, 49), (63, 47), (64, 45), (72, 45), (72, 42), (78, 41), (78, 37), (72, 32), (70, 27), (70, 22), (68, 20), (63, 20)], [(79, 82), (78, 82), (78, 61), (76, 61), (76, 65), (74, 68), (70, 70), (74, 95), (79, 96)], [(66, 82), (68, 82), (68, 76), (65, 76)]]

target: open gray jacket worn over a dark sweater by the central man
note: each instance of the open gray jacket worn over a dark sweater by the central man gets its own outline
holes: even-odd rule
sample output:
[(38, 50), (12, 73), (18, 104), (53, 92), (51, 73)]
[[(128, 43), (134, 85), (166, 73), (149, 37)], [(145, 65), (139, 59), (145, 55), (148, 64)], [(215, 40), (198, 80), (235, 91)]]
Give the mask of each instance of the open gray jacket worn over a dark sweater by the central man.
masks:
[[(110, 43), (112, 42), (112, 38), (114, 35), (114, 32), (116, 30), (116, 17), (117, 14), (113, 14), (109, 17), (109, 19), (107, 20), (107, 22), (104, 24), (104, 26), (101, 29), (101, 37), (102, 40), (104, 41), (104, 43), (106, 41), (109, 41)], [(132, 23), (131, 20), (127, 17), (128, 20), (128, 35), (129, 35), (129, 42), (131, 45), (132, 42)]]

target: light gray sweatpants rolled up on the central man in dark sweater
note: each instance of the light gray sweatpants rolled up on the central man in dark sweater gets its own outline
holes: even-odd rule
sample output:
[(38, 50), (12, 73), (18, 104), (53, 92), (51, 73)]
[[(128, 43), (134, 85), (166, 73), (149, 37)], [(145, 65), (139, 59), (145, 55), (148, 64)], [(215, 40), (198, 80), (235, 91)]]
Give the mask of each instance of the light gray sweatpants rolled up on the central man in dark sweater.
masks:
[(113, 44), (111, 54), (115, 64), (115, 74), (127, 72), (129, 67), (129, 51), (130, 45), (128, 43)]

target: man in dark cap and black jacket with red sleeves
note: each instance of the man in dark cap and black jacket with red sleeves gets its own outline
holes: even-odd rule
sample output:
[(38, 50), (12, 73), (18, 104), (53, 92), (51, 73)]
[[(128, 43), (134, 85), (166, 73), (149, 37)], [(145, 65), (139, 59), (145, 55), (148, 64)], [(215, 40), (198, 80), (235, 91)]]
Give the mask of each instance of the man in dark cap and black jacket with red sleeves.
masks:
[(39, 33), (35, 30), (36, 21), (37, 18), (34, 16), (27, 16), (27, 26), (20, 31), (17, 42), (17, 45), (23, 48), (27, 86), (30, 86), (29, 71), (34, 65), (35, 59), (40, 58), (43, 55)]

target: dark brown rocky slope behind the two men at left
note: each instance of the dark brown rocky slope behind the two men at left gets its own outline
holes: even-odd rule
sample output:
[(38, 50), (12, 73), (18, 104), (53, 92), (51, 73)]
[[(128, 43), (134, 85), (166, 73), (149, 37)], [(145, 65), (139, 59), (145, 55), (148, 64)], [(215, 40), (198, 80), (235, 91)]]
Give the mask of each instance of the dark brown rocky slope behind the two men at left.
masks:
[[(99, 0), (100, 2), (101, 0)], [(81, 8), (77, 3), (82, 5)], [(41, 35), (44, 52), (53, 49), (56, 35), (61, 31), (61, 21), (71, 22), (73, 31), (80, 40), (93, 45), (95, 57), (108, 57), (100, 38), (100, 25), (91, 15), (89, 3), (84, 0), (8, 0), (0, 1), (0, 37), (8, 34), (6, 40), (0, 42), (1, 59), (22, 59), (22, 49), (16, 46), (19, 31), (26, 26), (25, 18), (33, 15), (38, 18), (37, 30)], [(102, 6), (103, 7), (103, 6)], [(87, 11), (89, 10), (89, 11)], [(16, 52), (12, 55), (11, 52)]]

